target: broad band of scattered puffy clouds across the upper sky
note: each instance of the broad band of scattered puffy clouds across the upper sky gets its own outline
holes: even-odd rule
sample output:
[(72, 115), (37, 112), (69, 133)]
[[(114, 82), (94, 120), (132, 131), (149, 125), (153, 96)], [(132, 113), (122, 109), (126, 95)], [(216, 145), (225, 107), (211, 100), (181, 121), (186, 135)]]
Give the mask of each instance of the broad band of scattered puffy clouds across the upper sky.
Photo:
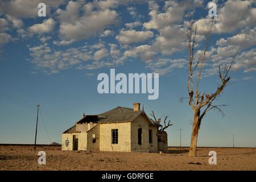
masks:
[[(37, 19), (39, 2), (48, 7), (46, 18)], [(240, 45), (232, 70), (255, 72), (255, 1), (214, 2), (218, 4), (217, 17), (206, 53), (204, 76), (216, 75), (219, 65), (230, 64)], [(166, 75), (176, 68), (185, 68), (187, 28), (195, 20), (195, 58), (200, 56), (204, 34), (212, 20), (204, 1), (140, 1), (145, 11), (140, 11), (142, 6), (137, 3), (3, 0), (0, 46), (33, 39), (28, 48), (30, 61), (46, 73), (68, 68), (117, 67), (138, 60), (152, 72)], [(123, 8), (125, 11), (121, 11)], [(200, 16), (197, 11), (202, 12)]]

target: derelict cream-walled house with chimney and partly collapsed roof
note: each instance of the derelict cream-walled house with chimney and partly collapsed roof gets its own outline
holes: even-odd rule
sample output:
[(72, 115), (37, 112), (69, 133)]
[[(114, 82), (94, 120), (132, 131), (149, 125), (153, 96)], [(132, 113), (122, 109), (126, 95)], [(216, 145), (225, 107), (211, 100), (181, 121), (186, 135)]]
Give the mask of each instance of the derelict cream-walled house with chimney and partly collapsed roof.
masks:
[(84, 115), (62, 134), (62, 150), (138, 151), (167, 150), (167, 133), (140, 109), (115, 107), (98, 115)]

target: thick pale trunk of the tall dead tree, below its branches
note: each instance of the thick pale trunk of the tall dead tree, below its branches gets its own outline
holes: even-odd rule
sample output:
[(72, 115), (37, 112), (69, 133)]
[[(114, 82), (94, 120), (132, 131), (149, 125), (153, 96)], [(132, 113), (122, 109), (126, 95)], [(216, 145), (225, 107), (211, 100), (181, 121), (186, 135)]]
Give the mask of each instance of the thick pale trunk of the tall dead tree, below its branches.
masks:
[(200, 110), (195, 110), (194, 118), (193, 118), (193, 127), (191, 133), (191, 144), (189, 148), (188, 156), (196, 156), (196, 146), (197, 146), (197, 137), (199, 133), (200, 127)]

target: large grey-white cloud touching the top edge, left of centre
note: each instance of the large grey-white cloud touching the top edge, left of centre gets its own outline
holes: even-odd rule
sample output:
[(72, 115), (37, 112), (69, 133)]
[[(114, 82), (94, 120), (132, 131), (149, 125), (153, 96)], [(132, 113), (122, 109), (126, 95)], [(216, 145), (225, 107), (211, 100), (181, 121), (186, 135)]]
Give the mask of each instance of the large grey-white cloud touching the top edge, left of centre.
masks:
[[(85, 9), (85, 10), (84, 10)], [(60, 19), (60, 38), (81, 40), (104, 31), (105, 27), (117, 21), (117, 12), (104, 9), (93, 11), (92, 3), (84, 5), (70, 1), (65, 10), (57, 10)], [(80, 16), (79, 11), (82, 11)]]

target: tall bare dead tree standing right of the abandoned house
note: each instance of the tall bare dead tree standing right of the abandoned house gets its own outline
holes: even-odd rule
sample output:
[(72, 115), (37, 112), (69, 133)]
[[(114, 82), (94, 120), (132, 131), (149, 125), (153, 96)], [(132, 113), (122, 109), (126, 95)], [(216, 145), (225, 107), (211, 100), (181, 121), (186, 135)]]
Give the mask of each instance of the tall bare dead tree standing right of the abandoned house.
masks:
[[(195, 60), (194, 52), (195, 52), (195, 40), (196, 40), (196, 26), (194, 22), (191, 23), (191, 26), (188, 30), (188, 104), (191, 106), (193, 110), (193, 122), (192, 122), (192, 133), (191, 133), (191, 146), (189, 149), (189, 156), (196, 156), (196, 147), (197, 147), (197, 137), (199, 134), (199, 129), (201, 125), (201, 121), (204, 118), (205, 114), (209, 110), (217, 109), (222, 114), (223, 111), (220, 109), (221, 106), (225, 105), (214, 105), (213, 101), (217, 96), (224, 90), (224, 88), (228, 85), (230, 81), (230, 76), (228, 73), (232, 67), (234, 57), (229, 66), (223, 65), (222, 67), (218, 67), (218, 76), (220, 77), (220, 84), (218, 84), (216, 90), (212, 93), (202, 93), (199, 90), (199, 82), (203, 72), (203, 65), (206, 59), (206, 53), (208, 50), (209, 42), (210, 42), (210, 32), (212, 31), (213, 20), (210, 24), (209, 30), (207, 34), (205, 34), (205, 45), (204, 51), (201, 52), (199, 59)], [(196, 72), (197, 71), (197, 72)], [(193, 85), (193, 78), (196, 80), (196, 84)], [(195, 91), (194, 88), (195, 87)]]

